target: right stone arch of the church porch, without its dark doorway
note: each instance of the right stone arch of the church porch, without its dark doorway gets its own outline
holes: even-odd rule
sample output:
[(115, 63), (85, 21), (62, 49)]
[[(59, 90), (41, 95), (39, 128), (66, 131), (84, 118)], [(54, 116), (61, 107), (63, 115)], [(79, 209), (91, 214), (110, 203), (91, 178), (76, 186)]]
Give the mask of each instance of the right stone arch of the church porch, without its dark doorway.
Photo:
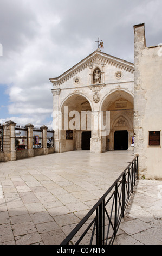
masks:
[(102, 149), (114, 150), (115, 131), (125, 130), (128, 132), (128, 149), (131, 148), (131, 136), (133, 136), (133, 93), (126, 89), (111, 90), (100, 103), (100, 111), (110, 111), (110, 133), (102, 136)]

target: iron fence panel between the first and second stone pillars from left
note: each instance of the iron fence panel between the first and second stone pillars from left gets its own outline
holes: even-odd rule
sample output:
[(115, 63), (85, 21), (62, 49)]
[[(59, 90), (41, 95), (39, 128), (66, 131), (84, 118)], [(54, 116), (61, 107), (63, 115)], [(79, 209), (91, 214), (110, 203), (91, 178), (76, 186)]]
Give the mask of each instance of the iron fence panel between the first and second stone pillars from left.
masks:
[(28, 129), (24, 126), (15, 126), (15, 149), (27, 149)]

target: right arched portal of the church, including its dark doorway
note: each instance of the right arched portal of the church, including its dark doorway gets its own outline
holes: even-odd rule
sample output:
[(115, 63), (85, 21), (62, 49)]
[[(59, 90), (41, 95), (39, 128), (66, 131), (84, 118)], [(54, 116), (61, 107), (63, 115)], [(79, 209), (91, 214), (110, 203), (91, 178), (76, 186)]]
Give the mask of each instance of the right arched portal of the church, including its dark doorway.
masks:
[(110, 132), (102, 136), (102, 151), (133, 150), (133, 95), (117, 89), (105, 96), (102, 111), (110, 111)]

